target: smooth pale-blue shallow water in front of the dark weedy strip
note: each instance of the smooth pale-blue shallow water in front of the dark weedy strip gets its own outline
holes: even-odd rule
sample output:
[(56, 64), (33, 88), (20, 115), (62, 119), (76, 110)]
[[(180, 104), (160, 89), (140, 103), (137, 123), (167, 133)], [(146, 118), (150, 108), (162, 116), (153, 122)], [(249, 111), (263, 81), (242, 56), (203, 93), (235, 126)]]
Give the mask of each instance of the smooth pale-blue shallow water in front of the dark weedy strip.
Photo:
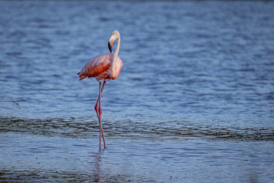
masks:
[(273, 142), (148, 141), (1, 133), (1, 181), (271, 182)]

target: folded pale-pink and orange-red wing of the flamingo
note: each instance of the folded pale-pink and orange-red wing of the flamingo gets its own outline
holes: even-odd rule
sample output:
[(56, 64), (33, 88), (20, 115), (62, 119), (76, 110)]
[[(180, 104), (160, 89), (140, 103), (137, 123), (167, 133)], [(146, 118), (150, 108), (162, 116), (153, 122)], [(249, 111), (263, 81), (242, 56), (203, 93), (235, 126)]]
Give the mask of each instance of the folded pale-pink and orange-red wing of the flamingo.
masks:
[(96, 79), (110, 79), (109, 71), (113, 54), (106, 53), (98, 55), (88, 61), (79, 73), (79, 80), (86, 77), (96, 77)]

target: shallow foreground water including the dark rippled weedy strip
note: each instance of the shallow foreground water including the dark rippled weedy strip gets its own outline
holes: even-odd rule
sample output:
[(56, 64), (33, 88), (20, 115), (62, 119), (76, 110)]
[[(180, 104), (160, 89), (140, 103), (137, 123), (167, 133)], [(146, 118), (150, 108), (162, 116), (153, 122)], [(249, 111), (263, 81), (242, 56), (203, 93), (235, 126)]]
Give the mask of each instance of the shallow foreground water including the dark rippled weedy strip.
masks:
[(96, 118), (1, 118), (0, 180), (271, 182), (274, 179), (271, 128), (218, 128), (187, 121), (168, 121), (170, 125), (165, 126), (151, 119), (152, 129), (140, 117), (139, 123), (130, 128), (131, 121), (111, 123), (112, 120), (107, 119), (104, 125), (108, 148), (99, 150)]

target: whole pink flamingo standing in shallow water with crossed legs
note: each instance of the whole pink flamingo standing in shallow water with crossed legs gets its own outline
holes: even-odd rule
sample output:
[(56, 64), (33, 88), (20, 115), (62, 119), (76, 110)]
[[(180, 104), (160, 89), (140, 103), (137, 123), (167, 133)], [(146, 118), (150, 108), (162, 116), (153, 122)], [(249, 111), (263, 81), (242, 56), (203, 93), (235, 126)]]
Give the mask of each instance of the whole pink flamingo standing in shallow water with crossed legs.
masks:
[[(102, 110), (101, 110), (101, 95), (104, 90), (105, 84), (107, 81), (115, 80), (118, 78), (119, 73), (122, 69), (123, 62), (118, 57), (118, 52), (120, 48), (120, 33), (118, 30), (114, 30), (111, 33), (111, 38), (108, 41), (109, 51), (112, 52), (113, 42), (117, 39), (117, 47), (112, 53), (105, 53), (103, 55), (98, 55), (93, 57), (90, 61), (88, 61), (82, 68), (82, 70), (78, 73), (79, 80), (85, 79), (86, 77), (91, 78), (95, 77), (97, 82), (99, 82), (99, 97), (94, 106), (94, 109), (97, 113), (97, 117), (100, 125), (100, 149), (101, 149), (101, 134), (103, 136), (104, 148), (107, 148), (107, 144), (105, 141), (104, 131), (102, 127)], [(103, 86), (101, 88), (102, 80), (104, 80)], [(99, 109), (98, 109), (99, 105)]]

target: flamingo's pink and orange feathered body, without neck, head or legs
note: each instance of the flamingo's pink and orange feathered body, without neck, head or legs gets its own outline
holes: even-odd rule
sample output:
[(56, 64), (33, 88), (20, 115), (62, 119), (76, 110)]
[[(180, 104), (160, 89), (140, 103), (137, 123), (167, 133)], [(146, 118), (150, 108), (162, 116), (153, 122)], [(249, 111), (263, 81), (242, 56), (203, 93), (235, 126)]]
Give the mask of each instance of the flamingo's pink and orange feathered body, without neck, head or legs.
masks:
[(122, 69), (123, 62), (120, 57), (117, 56), (115, 72), (111, 77), (110, 72), (113, 56), (114, 54), (112, 53), (105, 53), (103, 55), (93, 57), (83, 66), (79, 73), (79, 80), (85, 79), (86, 77), (95, 77), (98, 82), (101, 82), (103, 79), (105, 81), (117, 79)]

